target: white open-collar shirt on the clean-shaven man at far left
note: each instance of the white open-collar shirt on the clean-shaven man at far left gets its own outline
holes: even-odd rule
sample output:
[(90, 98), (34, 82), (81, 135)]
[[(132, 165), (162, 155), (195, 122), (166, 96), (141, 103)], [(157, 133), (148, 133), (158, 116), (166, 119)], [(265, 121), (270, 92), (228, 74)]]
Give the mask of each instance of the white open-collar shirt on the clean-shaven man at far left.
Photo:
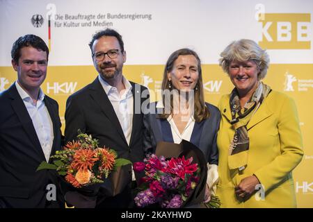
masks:
[(47, 162), (49, 162), (51, 149), (54, 143), (54, 130), (51, 117), (45, 106), (45, 94), (40, 89), (37, 103), (33, 103), (31, 96), (25, 92), (25, 90), (19, 86), (19, 83), (15, 82), (17, 92), (21, 96), (24, 105), (29, 112), (29, 116), (33, 121), (33, 127), (35, 128), (37, 137), (39, 139), (43, 153)]

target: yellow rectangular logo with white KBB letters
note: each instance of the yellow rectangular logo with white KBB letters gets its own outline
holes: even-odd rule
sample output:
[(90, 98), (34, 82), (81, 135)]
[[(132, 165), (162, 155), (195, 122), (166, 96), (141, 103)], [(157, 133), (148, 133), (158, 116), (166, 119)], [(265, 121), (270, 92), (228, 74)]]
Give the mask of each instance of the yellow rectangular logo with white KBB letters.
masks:
[(311, 49), (310, 13), (264, 13), (259, 22), (262, 22), (259, 42), (262, 48)]

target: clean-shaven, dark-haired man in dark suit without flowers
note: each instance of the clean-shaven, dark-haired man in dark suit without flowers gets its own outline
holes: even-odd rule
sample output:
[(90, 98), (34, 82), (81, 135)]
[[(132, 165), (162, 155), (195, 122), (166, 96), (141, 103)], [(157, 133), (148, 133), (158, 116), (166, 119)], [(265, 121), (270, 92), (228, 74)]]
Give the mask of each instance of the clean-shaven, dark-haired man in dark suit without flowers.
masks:
[(61, 148), (58, 103), (43, 94), (49, 49), (36, 35), (11, 51), (17, 80), (0, 94), (0, 207), (61, 207), (54, 172), (36, 172)]

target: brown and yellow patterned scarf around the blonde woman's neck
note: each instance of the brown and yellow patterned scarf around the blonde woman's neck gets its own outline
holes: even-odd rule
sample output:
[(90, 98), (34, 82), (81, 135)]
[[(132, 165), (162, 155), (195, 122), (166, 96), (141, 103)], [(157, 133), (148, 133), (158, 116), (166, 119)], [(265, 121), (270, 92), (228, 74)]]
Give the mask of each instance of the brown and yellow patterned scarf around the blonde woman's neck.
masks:
[(268, 85), (260, 82), (246, 105), (241, 108), (239, 94), (234, 88), (230, 94), (230, 109), (232, 112), (232, 127), (235, 130), (230, 144), (228, 166), (230, 169), (242, 171), (248, 163), (249, 137), (247, 124), (266, 96), (271, 92)]

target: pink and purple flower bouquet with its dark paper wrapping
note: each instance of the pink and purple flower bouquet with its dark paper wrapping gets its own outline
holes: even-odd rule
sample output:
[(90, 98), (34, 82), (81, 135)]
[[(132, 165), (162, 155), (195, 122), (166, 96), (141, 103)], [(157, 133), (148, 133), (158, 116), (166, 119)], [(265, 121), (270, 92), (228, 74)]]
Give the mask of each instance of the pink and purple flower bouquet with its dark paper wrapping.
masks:
[(159, 142), (134, 171), (145, 171), (134, 198), (137, 207), (180, 208), (203, 202), (207, 162), (195, 145)]

